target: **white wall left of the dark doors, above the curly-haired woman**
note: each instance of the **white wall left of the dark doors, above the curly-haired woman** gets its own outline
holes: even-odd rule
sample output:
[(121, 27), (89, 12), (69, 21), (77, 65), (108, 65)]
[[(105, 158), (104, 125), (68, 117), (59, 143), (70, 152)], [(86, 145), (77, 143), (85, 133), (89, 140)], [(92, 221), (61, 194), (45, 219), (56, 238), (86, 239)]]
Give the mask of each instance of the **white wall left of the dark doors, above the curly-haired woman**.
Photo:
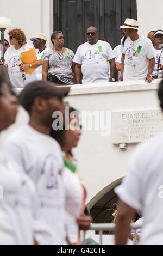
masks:
[[(53, 0), (8, 0), (1, 1), (0, 17), (8, 17), (12, 21), (12, 28), (21, 28), (26, 36), (28, 44), (32, 44), (29, 38), (37, 33), (45, 33), (49, 36), (53, 32)], [(50, 40), (47, 43), (49, 47)]]

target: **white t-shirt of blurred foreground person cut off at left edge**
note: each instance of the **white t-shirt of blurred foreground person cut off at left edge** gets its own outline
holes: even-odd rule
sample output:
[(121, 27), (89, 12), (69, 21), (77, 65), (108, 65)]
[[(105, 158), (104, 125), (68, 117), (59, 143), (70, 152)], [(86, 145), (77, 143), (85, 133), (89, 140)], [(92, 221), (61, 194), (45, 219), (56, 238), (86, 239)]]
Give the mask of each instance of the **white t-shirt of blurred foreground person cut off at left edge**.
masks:
[(33, 245), (33, 181), (0, 149), (0, 245)]

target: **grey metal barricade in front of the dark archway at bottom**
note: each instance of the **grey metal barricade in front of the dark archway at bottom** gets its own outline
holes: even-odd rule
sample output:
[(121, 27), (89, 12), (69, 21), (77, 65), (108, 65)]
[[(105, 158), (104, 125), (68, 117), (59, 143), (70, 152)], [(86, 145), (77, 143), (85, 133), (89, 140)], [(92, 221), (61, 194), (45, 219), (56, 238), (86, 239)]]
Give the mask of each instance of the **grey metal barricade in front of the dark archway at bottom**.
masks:
[[(99, 231), (99, 243), (100, 245), (103, 245), (103, 231), (113, 231), (115, 229), (115, 225), (113, 223), (96, 223), (96, 224), (91, 224), (91, 227), (89, 230), (96, 230)], [(130, 224), (131, 229), (134, 230), (134, 240), (133, 240), (133, 245), (137, 244), (137, 234), (136, 234), (136, 230), (142, 228), (140, 224), (135, 224), (135, 223), (131, 223)], [(86, 232), (83, 232), (83, 245), (85, 245), (85, 234)]]

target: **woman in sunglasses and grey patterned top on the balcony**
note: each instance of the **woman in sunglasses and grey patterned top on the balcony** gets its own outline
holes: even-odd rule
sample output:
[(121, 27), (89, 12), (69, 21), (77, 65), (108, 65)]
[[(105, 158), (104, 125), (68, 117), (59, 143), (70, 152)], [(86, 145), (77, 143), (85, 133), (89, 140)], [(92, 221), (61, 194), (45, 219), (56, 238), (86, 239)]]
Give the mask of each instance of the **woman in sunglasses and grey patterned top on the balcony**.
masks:
[(65, 38), (61, 31), (53, 32), (51, 40), (54, 47), (43, 57), (43, 80), (52, 81), (56, 85), (74, 84), (73, 51), (64, 48)]

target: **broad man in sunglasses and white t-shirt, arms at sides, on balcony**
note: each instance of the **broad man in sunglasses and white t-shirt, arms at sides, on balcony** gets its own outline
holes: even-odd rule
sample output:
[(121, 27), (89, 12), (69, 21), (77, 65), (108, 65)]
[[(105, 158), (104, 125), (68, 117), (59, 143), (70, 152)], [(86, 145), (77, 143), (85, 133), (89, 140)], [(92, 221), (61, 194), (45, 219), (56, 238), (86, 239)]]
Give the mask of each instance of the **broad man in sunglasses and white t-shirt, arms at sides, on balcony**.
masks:
[[(115, 81), (115, 54), (108, 42), (98, 40), (98, 31), (95, 27), (87, 29), (87, 42), (80, 45), (74, 56), (76, 63), (74, 75), (76, 83), (80, 84), (80, 77), (83, 75), (82, 83), (99, 83)], [(110, 77), (109, 65), (110, 63)]]

